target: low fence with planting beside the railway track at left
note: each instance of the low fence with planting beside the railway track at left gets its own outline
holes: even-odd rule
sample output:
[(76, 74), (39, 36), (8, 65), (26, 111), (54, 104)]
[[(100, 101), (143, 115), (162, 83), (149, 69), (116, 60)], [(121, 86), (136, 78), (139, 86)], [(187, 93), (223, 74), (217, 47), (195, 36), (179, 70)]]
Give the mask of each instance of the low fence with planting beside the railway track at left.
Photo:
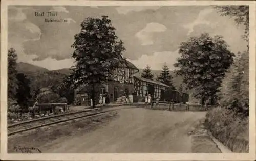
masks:
[(28, 109), (8, 109), (8, 119), (33, 119), (62, 113), (68, 109), (67, 103), (36, 104), (35, 107)]

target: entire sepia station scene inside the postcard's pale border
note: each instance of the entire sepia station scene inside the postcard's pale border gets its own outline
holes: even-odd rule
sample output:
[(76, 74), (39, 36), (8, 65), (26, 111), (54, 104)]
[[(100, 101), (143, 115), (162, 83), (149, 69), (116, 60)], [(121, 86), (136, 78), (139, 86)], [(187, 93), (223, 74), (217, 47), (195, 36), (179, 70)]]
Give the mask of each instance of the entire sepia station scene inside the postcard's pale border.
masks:
[(8, 153), (249, 153), (249, 6), (8, 6)]

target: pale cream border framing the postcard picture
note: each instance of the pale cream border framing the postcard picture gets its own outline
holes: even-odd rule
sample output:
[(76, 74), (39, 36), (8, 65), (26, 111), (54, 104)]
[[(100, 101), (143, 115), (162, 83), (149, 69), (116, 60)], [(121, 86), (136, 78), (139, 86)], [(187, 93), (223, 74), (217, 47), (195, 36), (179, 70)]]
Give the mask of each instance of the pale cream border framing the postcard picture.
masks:
[[(249, 153), (126, 153), (8, 154), (7, 153), (7, 6), (250, 6)], [(1, 160), (255, 160), (255, 1), (1, 1)]]

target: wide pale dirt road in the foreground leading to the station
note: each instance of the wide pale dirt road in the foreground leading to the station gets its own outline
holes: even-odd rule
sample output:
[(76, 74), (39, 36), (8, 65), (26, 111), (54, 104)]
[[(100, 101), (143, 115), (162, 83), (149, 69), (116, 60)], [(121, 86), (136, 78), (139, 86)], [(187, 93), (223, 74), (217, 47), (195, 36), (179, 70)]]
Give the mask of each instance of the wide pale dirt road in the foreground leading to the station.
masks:
[(44, 153), (189, 153), (193, 130), (205, 112), (122, 109), (119, 117), (80, 136), (57, 139)]

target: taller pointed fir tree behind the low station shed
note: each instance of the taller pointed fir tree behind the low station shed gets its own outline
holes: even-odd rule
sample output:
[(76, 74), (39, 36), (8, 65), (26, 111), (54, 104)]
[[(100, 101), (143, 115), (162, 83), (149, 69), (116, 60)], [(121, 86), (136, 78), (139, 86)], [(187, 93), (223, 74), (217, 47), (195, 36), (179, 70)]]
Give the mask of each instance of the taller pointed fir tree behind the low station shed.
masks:
[(157, 77), (157, 81), (170, 86), (171, 89), (175, 89), (173, 86), (173, 77), (170, 75), (170, 71), (166, 63), (164, 63), (160, 75)]

